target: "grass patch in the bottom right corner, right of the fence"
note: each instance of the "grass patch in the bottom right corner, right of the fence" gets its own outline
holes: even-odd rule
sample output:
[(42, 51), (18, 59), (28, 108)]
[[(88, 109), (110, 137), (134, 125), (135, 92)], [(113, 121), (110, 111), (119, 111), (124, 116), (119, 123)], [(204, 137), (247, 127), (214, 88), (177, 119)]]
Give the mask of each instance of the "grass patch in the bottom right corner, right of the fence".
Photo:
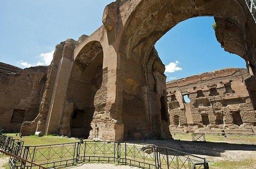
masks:
[(243, 161), (216, 161), (209, 164), (212, 169), (255, 169), (255, 159), (248, 158)]

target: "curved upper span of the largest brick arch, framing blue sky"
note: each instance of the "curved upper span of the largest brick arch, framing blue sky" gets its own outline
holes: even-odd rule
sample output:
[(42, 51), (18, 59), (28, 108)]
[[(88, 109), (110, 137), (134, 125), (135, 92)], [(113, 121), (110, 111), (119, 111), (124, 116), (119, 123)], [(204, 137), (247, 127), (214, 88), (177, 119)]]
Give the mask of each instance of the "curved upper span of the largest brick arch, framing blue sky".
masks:
[(198, 16), (214, 16), (221, 46), (255, 65), (256, 26), (244, 0), (140, 0), (125, 22), (119, 52), (145, 65), (158, 39)]

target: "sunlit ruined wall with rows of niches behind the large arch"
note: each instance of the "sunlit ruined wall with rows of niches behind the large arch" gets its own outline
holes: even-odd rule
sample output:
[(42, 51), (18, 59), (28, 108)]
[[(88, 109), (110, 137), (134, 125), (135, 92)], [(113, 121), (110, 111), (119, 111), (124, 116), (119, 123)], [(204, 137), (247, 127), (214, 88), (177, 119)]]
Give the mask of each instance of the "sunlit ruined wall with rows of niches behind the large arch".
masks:
[(171, 132), (253, 133), (248, 77), (247, 69), (227, 68), (167, 82)]

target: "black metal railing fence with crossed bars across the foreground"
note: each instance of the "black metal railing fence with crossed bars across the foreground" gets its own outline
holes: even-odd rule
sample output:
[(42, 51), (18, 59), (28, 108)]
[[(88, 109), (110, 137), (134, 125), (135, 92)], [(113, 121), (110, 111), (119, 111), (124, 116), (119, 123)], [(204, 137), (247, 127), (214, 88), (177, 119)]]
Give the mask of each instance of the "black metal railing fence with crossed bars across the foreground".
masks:
[[(46, 168), (94, 161), (127, 164), (143, 169), (209, 169), (205, 158), (151, 144), (84, 141), (83, 143), (23, 146), (23, 141), (1, 135), (0, 145), (3, 149), (9, 147), (8, 151), (17, 157)], [(26, 161), (21, 162), (11, 157), (9, 165), (11, 169), (38, 168)]]

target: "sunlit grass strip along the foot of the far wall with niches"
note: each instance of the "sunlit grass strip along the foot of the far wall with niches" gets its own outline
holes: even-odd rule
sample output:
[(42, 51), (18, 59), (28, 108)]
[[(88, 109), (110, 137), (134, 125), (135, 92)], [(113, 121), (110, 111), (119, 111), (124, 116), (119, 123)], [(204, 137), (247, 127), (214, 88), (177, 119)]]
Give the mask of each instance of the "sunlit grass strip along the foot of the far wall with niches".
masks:
[[(183, 141), (192, 141), (191, 134), (182, 134), (182, 133), (172, 133), (172, 137), (175, 140), (183, 140)], [(210, 142), (224, 142), (224, 143), (233, 143), (233, 144), (256, 144), (256, 136), (250, 135), (227, 135), (225, 138), (222, 135), (214, 135), (214, 134), (206, 134), (206, 141)]]

